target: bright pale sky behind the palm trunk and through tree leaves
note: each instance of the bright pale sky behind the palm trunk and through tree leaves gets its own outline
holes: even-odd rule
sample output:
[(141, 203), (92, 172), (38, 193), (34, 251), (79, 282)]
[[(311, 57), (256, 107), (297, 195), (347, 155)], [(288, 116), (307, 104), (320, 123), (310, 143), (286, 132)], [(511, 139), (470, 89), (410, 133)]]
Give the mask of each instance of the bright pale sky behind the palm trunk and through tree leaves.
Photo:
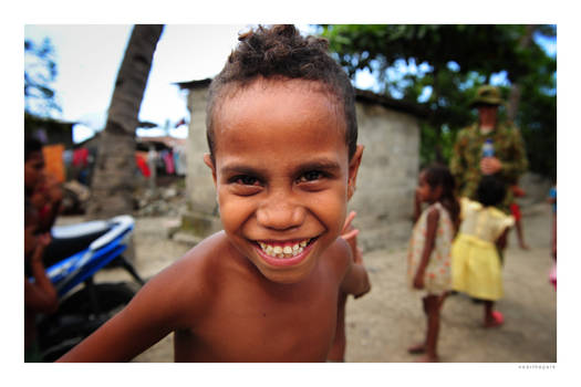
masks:
[[(147, 87), (139, 111), (139, 121), (159, 127), (168, 125), (175, 137), (187, 137), (187, 126), (175, 127), (189, 118), (186, 91), (177, 82), (214, 77), (237, 44), (240, 31), (250, 24), (167, 24), (157, 44)], [(298, 25), (303, 33), (308, 24)], [(25, 24), (24, 38), (40, 44), (49, 38), (54, 46), (58, 76), (52, 87), (62, 107), (58, 118), (79, 123), (73, 140), (81, 142), (105, 126), (106, 111), (113, 94), (132, 24)], [(211, 39), (208, 39), (211, 36)], [(556, 53), (554, 42), (547, 50)], [(504, 82), (502, 74), (492, 80)], [(360, 88), (377, 88), (369, 71), (357, 73)], [(423, 98), (429, 96), (426, 90)], [(162, 128), (138, 129), (138, 135), (164, 135)]]

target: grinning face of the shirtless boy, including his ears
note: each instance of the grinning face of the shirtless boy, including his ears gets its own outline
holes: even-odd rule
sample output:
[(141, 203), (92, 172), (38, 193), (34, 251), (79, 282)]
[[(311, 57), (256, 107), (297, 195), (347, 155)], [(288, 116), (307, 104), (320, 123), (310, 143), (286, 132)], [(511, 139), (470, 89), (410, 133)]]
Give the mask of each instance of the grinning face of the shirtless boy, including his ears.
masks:
[[(341, 108), (302, 80), (257, 80), (215, 116), (211, 168), (226, 233), (270, 281), (305, 279), (339, 237), (363, 148)], [(317, 84), (314, 84), (317, 86)]]

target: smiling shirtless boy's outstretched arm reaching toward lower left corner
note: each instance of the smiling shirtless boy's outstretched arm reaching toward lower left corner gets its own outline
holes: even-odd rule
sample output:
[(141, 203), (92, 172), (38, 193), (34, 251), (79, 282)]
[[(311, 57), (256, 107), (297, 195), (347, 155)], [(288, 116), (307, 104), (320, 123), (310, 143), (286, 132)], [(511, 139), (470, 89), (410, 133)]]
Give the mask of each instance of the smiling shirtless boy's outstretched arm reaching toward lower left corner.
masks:
[(187, 269), (174, 264), (149, 280), (123, 311), (58, 362), (128, 362), (183, 327), (184, 305), (189, 302), (194, 312), (199, 306), (179, 285), (184, 270)]

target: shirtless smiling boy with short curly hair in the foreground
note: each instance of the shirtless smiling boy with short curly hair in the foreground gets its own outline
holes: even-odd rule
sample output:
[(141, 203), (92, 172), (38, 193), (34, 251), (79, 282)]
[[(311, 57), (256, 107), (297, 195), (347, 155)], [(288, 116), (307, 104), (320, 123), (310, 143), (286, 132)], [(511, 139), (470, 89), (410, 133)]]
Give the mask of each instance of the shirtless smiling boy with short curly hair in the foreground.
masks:
[(340, 292), (370, 290), (339, 238), (363, 153), (347, 76), (292, 25), (239, 40), (207, 109), (224, 231), (61, 362), (128, 360), (172, 332), (176, 362), (324, 362)]

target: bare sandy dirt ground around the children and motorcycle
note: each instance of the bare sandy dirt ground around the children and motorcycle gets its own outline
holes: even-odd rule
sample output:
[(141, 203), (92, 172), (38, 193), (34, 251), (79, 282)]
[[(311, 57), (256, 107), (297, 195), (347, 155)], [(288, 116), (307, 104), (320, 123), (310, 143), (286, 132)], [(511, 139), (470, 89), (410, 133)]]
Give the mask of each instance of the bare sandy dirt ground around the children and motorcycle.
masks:
[[(502, 326), (483, 328), (481, 304), (461, 294), (448, 297), (442, 312), (442, 362), (557, 362), (557, 292), (548, 282), (552, 265), (550, 220), (546, 203), (523, 209), (528, 251), (519, 249), (515, 231), (510, 233), (505, 258), (505, 297), (497, 303), (505, 315)], [(167, 238), (167, 229), (177, 221), (175, 217), (136, 219), (136, 266), (144, 278), (155, 275), (190, 248)], [(405, 285), (406, 241), (395, 244), (364, 255), (373, 289), (362, 299), (347, 301), (346, 362), (408, 363), (416, 358), (406, 348), (423, 338), (425, 318), (421, 300)], [(117, 279), (129, 278), (117, 271), (102, 272), (96, 278)], [(172, 335), (134, 362), (173, 362)]]

